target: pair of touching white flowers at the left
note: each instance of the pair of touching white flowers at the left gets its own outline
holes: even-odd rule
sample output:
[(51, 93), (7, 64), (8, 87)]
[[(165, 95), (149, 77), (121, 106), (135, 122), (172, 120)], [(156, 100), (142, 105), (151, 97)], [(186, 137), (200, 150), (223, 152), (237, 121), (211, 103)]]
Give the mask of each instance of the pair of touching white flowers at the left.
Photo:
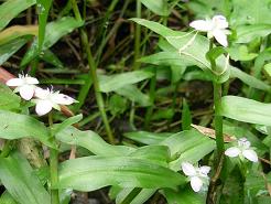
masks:
[(35, 111), (39, 116), (50, 112), (53, 108), (61, 110), (59, 105), (71, 105), (76, 100), (67, 95), (53, 92), (52, 89), (42, 89), (36, 86), (39, 80), (29, 75), (19, 75), (19, 78), (11, 78), (7, 82), (8, 86), (15, 87), (14, 92), (25, 100), (35, 103)]

